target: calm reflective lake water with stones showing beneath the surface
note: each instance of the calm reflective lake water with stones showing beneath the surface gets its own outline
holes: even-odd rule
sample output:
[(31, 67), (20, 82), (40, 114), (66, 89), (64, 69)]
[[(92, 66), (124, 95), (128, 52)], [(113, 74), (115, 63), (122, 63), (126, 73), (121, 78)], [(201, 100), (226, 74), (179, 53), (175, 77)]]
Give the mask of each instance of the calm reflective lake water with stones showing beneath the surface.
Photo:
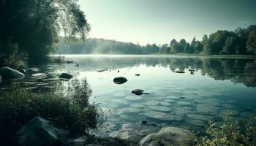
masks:
[[(208, 120), (222, 123), (229, 110), (243, 120), (256, 112), (256, 60), (162, 55), (64, 55), (75, 64), (34, 66), (22, 82), (27, 88), (54, 88), (61, 72), (72, 80), (87, 79), (93, 91), (89, 101), (99, 104), (106, 121), (105, 134), (127, 138), (165, 126), (203, 131)], [(189, 72), (189, 70), (195, 72)], [(105, 70), (103, 72), (99, 72)], [(183, 74), (174, 71), (185, 72)], [(135, 76), (140, 74), (140, 76)], [(126, 77), (117, 85), (115, 77)], [(20, 81), (19, 81), (20, 82)], [(71, 81), (61, 81), (64, 84)], [(131, 93), (142, 89), (146, 93)], [(42, 90), (43, 91), (43, 90)], [(149, 125), (142, 126), (146, 120)]]

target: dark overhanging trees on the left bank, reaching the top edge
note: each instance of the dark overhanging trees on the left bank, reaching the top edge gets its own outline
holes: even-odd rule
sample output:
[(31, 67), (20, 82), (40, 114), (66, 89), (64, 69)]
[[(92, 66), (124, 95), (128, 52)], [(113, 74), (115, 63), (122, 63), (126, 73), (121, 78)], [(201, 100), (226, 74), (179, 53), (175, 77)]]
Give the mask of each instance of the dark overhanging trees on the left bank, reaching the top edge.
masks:
[(0, 0), (0, 66), (45, 61), (60, 33), (84, 38), (88, 31), (77, 0)]

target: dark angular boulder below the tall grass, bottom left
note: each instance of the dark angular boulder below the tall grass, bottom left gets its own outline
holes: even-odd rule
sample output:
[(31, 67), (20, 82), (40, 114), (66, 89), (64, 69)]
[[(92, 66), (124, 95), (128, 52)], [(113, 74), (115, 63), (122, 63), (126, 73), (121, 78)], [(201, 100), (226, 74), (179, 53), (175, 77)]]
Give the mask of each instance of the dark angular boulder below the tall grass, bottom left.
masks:
[(48, 120), (35, 117), (18, 130), (17, 142), (20, 146), (61, 146), (66, 144), (67, 135)]

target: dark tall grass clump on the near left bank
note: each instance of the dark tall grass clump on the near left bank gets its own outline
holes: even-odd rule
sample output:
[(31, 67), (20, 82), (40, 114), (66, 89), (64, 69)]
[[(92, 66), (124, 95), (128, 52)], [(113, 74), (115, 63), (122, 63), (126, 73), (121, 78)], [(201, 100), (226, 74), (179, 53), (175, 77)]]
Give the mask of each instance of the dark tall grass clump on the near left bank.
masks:
[(0, 129), (15, 132), (39, 116), (72, 134), (85, 134), (90, 128), (97, 128), (102, 121), (98, 105), (88, 103), (88, 88), (86, 81), (81, 83), (81, 86), (75, 87), (73, 96), (54, 92), (31, 93), (17, 86), (12, 86), (10, 91), (1, 91)]

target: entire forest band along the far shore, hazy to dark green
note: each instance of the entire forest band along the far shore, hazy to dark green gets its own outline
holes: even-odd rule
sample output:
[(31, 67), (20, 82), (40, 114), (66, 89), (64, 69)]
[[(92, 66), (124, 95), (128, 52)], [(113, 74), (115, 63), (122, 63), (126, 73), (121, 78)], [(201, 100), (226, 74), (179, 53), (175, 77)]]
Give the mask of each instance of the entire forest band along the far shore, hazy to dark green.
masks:
[(118, 42), (106, 39), (86, 39), (70, 42), (60, 42), (60, 54), (202, 54), (202, 55), (255, 55), (256, 25), (248, 28), (237, 28), (235, 31), (217, 31), (204, 35), (199, 41), (195, 37), (192, 42), (172, 39), (165, 45), (141, 46), (132, 42)]

